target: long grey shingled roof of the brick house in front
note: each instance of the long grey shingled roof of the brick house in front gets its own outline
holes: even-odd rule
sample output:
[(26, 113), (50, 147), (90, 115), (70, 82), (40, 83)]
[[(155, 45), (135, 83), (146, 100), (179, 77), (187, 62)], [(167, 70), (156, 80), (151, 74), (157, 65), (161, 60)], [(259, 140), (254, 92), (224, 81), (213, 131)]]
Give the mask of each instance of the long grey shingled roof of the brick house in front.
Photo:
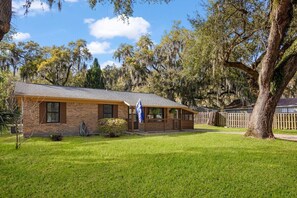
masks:
[(98, 101), (108, 100), (111, 102), (124, 102), (129, 106), (135, 106), (137, 101), (140, 99), (144, 107), (171, 107), (193, 111), (185, 105), (149, 93), (121, 92), (103, 89), (63, 87), (17, 82), (15, 85), (15, 95)]

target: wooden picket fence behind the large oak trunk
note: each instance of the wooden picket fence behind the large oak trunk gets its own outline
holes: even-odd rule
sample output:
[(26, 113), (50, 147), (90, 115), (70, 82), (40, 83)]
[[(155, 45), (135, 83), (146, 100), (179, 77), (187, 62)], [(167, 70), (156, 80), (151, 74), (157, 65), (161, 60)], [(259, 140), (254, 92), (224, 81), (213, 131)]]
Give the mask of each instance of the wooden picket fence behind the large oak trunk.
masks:
[[(195, 115), (195, 124), (207, 124), (211, 112), (199, 112)], [(250, 113), (226, 113), (218, 112), (218, 126), (230, 128), (247, 128)], [(282, 130), (297, 130), (296, 113), (277, 113), (274, 114), (273, 128)]]

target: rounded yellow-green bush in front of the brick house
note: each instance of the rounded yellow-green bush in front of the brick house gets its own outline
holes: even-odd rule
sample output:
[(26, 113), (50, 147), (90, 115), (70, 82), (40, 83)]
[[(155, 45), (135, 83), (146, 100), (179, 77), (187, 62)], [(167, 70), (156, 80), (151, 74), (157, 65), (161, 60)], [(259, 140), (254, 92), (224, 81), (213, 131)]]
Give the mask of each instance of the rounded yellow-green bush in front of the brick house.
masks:
[(128, 129), (127, 121), (120, 118), (103, 118), (98, 121), (99, 133), (108, 137), (119, 137)]

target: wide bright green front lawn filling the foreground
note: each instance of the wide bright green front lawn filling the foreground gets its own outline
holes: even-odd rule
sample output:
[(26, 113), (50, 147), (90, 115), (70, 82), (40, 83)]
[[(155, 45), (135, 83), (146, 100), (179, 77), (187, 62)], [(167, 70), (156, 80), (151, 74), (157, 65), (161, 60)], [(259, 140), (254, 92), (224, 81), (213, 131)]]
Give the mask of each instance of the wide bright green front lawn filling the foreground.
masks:
[(297, 146), (220, 133), (0, 137), (0, 197), (297, 197)]

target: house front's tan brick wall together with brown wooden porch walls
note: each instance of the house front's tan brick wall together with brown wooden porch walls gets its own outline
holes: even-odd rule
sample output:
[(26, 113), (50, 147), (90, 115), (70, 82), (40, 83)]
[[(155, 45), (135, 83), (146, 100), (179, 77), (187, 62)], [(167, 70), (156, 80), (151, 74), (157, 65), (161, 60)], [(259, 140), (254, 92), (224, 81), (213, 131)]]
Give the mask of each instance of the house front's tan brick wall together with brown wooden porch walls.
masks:
[[(40, 116), (42, 102), (63, 102), (66, 104), (65, 123), (46, 123), (41, 122)], [(63, 135), (78, 135), (79, 126), (82, 121), (85, 122), (90, 133), (98, 133), (98, 105), (102, 103), (71, 101), (67, 100), (38, 100), (26, 99), (22, 103), (23, 112), (23, 132), (25, 136), (47, 136), (52, 133), (62, 133)], [(108, 104), (108, 103), (106, 103)], [(117, 105), (117, 117), (128, 120), (128, 106), (124, 103)], [(135, 110), (134, 110), (135, 111)], [(64, 115), (65, 116), (65, 115)], [(134, 120), (135, 121), (135, 120)], [(131, 120), (130, 120), (131, 126)], [(164, 119), (158, 121), (149, 120), (146, 116), (145, 123), (139, 124), (139, 131), (164, 131), (193, 129), (193, 120), (183, 120), (182, 114), (179, 119), (174, 119), (169, 112), (169, 108), (164, 108)], [(130, 128), (131, 129), (131, 128)]]

